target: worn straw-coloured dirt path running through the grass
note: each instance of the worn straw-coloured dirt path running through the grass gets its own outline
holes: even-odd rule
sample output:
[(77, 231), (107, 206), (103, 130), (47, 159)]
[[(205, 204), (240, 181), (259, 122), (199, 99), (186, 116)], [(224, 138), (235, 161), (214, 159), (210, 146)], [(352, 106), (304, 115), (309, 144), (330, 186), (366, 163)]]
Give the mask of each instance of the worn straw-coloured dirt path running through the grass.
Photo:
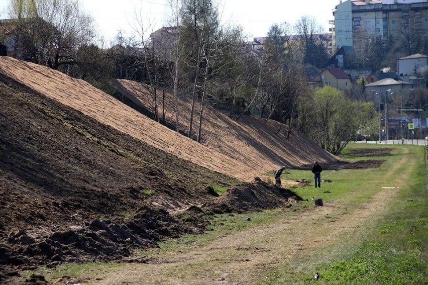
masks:
[[(339, 205), (316, 207), (280, 223), (225, 236), (191, 252), (149, 264), (126, 265), (89, 283), (140, 284), (145, 280), (147, 284), (249, 284), (286, 259), (338, 242), (369, 218), (380, 216), (396, 194), (396, 189), (384, 189), (370, 203), (347, 214)], [(185, 270), (189, 266), (192, 269)]]

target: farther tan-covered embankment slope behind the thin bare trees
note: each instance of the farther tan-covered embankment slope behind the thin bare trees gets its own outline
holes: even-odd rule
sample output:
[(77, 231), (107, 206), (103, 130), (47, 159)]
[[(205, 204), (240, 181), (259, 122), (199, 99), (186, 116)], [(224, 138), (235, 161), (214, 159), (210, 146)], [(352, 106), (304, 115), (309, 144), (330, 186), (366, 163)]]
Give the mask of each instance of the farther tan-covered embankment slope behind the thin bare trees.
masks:
[[(146, 110), (153, 110), (150, 94), (143, 84), (130, 80), (116, 80), (116, 89), (133, 104)], [(159, 101), (162, 92), (158, 93)], [(191, 109), (191, 94), (184, 93), (178, 104), (179, 130), (187, 131)], [(166, 121), (175, 125), (173, 96), (165, 94), (164, 108), (159, 103), (159, 110), (165, 110)], [(198, 103), (199, 106), (199, 103)], [(199, 108), (199, 107), (197, 107)], [(160, 111), (159, 111), (160, 112)], [(278, 122), (263, 120), (257, 116), (242, 116), (237, 122), (223, 113), (206, 106), (202, 123), (201, 143), (218, 152), (245, 164), (246, 170), (258, 169), (259, 173), (275, 169), (278, 165), (302, 167), (314, 160), (324, 164), (340, 160), (324, 151), (306, 136), (292, 132), (287, 138), (287, 127)], [(199, 127), (195, 120), (194, 130)]]

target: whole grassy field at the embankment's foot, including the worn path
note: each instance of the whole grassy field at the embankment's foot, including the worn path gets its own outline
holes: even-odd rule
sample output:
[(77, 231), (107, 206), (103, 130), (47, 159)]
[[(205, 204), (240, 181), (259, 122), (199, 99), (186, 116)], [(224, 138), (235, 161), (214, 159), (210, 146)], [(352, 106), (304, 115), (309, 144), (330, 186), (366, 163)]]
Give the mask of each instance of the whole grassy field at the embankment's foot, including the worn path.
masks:
[[(314, 272), (318, 284), (428, 284), (424, 148), (351, 143), (345, 153), (378, 147), (394, 149), (382, 157), (344, 159), (387, 159), (380, 168), (323, 171), (322, 179), (331, 182), (322, 188), (313, 187), (310, 171), (291, 170), (283, 178), (312, 182), (293, 189), (308, 201), (291, 210), (217, 215), (206, 234), (135, 253), (159, 261), (154, 264), (65, 264), (36, 273), (48, 280), (75, 276), (81, 284), (311, 284)], [(325, 212), (315, 212), (311, 197), (326, 202), (317, 208)], [(297, 243), (299, 249), (290, 248)]]

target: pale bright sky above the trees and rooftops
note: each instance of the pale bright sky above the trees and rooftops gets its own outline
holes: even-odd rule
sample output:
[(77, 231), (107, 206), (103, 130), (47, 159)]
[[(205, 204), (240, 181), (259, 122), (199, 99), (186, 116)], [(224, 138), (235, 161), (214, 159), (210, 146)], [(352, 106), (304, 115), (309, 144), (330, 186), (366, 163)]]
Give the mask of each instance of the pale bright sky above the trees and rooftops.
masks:
[[(339, 0), (217, 1), (220, 1), (223, 23), (242, 26), (247, 39), (264, 37), (273, 24), (295, 24), (302, 16), (314, 17), (328, 32), (329, 20), (334, 20), (332, 12), (339, 4)], [(168, 26), (168, 0), (80, 0), (80, 3), (83, 10), (95, 19), (99, 34), (107, 42), (114, 40), (119, 30), (125, 36), (131, 35), (138, 23), (135, 19), (144, 19), (143, 26), (148, 34)], [(1, 19), (7, 18), (5, 9), (8, 4), (9, 0), (0, 0)], [(141, 17), (136, 18), (136, 12)]]

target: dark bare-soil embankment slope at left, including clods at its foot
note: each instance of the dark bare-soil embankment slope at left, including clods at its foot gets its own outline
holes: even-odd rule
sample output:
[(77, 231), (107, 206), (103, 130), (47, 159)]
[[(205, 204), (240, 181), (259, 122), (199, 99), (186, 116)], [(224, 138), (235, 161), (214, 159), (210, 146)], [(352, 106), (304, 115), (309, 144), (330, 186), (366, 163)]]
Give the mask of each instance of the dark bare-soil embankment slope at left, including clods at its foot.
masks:
[(236, 182), (3, 75), (0, 106), (0, 283), (13, 266), (122, 259), (198, 231), (165, 209)]

